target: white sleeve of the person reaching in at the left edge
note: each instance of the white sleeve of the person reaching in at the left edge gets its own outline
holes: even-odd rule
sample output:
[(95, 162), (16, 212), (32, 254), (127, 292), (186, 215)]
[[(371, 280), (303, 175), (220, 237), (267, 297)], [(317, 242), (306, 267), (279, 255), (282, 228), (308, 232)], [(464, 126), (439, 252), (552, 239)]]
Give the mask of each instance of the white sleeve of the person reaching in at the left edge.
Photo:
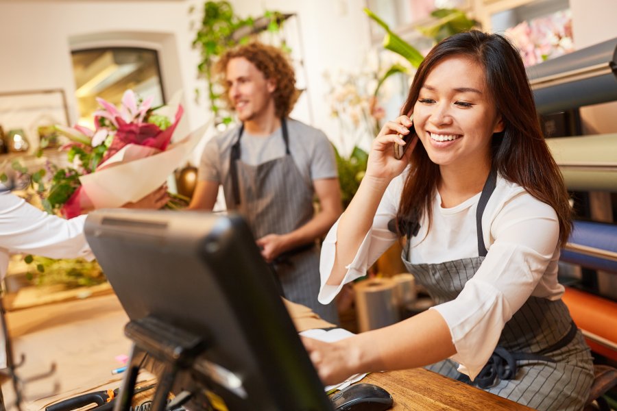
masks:
[(86, 237), (86, 216), (52, 216), (9, 193), (0, 194), (0, 247), (9, 253), (49, 258), (94, 258)]

